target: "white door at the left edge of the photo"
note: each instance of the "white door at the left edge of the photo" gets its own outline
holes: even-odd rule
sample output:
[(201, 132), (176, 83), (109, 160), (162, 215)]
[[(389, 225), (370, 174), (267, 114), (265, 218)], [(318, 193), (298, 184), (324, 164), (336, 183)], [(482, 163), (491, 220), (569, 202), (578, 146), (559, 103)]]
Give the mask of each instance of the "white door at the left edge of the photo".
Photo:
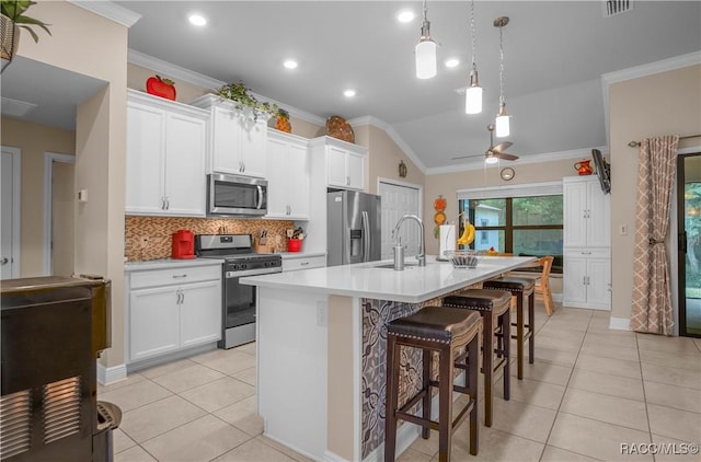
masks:
[(20, 277), (20, 150), (2, 147), (0, 279)]

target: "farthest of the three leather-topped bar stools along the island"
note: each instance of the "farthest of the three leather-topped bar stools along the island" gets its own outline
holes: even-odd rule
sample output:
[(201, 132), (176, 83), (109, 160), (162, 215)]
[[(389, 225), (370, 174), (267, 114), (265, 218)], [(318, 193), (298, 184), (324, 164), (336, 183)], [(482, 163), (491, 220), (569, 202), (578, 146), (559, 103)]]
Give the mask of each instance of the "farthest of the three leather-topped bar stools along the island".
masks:
[[(533, 288), (535, 282), (531, 278), (519, 277), (501, 277), (497, 279), (489, 279), (482, 282), (484, 289), (505, 290), (510, 292), (513, 297), (516, 297), (516, 323), (512, 325), (516, 326), (516, 353), (518, 356), (517, 369), (518, 380), (524, 379), (524, 343), (528, 339), (528, 362), (533, 363), (536, 357), (536, 346), (533, 344), (533, 326), (536, 321), (535, 314), (535, 297)], [(524, 299), (528, 297), (528, 324), (524, 321)], [(528, 332), (524, 332), (527, 328)]]

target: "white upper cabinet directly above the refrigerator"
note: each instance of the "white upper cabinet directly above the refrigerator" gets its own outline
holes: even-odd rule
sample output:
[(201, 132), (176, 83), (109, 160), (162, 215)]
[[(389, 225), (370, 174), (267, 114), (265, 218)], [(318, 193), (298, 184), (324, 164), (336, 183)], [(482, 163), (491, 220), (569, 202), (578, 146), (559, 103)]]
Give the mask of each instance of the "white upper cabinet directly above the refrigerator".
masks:
[(326, 186), (365, 190), (366, 148), (331, 137), (314, 138), (310, 147), (315, 162), (320, 157), (325, 161)]

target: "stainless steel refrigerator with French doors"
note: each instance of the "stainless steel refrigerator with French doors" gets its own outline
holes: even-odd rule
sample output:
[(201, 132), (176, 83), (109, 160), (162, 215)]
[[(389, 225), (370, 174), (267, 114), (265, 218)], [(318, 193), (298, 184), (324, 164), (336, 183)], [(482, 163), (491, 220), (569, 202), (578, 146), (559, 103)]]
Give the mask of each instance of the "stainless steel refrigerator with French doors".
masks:
[(380, 196), (338, 190), (326, 196), (326, 265), (380, 259)]

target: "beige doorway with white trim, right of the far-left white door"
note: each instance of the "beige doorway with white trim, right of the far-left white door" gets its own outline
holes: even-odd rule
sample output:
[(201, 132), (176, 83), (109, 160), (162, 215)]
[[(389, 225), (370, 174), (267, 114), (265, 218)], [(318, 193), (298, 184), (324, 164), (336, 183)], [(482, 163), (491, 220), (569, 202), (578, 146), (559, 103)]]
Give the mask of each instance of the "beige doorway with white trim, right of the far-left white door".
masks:
[(51, 275), (73, 274), (73, 171), (70, 162), (51, 162)]

